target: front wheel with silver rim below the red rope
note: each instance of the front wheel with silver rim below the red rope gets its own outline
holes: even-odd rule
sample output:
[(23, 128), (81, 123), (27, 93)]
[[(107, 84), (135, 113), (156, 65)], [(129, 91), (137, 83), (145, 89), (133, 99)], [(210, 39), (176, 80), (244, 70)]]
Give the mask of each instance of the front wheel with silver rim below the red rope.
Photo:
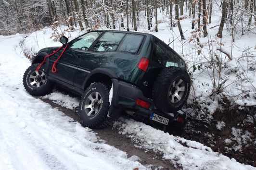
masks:
[(44, 96), (51, 93), (54, 83), (48, 79), (44, 69), (36, 71), (38, 64), (29, 66), (23, 75), (23, 85), (26, 91), (33, 96)]

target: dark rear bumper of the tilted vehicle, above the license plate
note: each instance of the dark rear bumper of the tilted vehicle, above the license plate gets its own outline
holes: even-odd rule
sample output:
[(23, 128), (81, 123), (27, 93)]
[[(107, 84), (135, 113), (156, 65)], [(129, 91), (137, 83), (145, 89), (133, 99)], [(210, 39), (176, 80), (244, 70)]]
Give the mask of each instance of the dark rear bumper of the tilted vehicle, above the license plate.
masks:
[[(120, 81), (118, 79), (113, 78), (113, 98), (109, 110), (109, 117), (118, 119), (122, 110), (131, 110), (136, 112), (142, 117), (150, 119), (152, 113), (156, 113), (160, 116), (166, 117), (169, 119), (169, 122), (176, 121), (178, 117), (182, 117), (185, 119), (186, 113), (182, 110), (179, 110), (174, 113), (164, 113), (160, 110), (155, 109), (154, 103), (152, 99), (143, 96), (141, 89), (138, 87), (131, 85), (129, 83)], [(136, 99), (140, 98), (148, 103), (150, 103), (149, 109), (144, 109), (138, 105), (136, 105)]]

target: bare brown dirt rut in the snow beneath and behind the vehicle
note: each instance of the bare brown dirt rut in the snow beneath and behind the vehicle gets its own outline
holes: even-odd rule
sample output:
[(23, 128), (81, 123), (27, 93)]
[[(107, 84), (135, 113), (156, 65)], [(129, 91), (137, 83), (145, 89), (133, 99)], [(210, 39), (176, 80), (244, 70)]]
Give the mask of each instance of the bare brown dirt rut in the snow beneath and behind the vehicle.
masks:
[[(46, 103), (49, 103), (53, 108), (57, 108), (62, 111), (65, 115), (74, 119), (74, 121), (79, 121), (77, 113), (74, 110), (66, 109), (61, 107), (55, 103), (53, 103), (49, 99), (42, 99)], [(107, 144), (111, 146), (115, 146), (116, 148), (126, 152), (128, 154), (128, 158), (135, 155), (140, 158), (138, 160), (143, 165), (151, 165), (152, 170), (179, 170), (180, 168), (175, 168), (173, 164), (170, 163), (169, 160), (162, 159), (162, 155), (155, 154), (151, 151), (145, 151), (138, 149), (134, 146), (131, 139), (127, 138), (124, 135), (118, 134), (117, 129), (113, 127), (108, 127), (104, 129), (95, 129), (93, 130), (97, 136), (106, 141)]]

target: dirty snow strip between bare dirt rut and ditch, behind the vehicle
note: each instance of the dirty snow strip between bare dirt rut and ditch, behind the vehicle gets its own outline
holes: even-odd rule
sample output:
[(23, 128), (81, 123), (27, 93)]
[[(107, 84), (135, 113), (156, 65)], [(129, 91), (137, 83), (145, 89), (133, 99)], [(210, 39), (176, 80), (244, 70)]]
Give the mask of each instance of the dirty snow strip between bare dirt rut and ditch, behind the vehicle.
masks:
[[(58, 104), (61, 105), (62, 100), (68, 101), (68, 98), (72, 97), (63, 95)], [(164, 159), (182, 166), (185, 170), (256, 170), (252, 166), (236, 162), (234, 158), (213, 152), (210, 147), (201, 143), (164, 133), (142, 122), (121, 118), (115, 121), (114, 127), (118, 129), (119, 134), (128, 136), (138, 149), (163, 154)], [(245, 135), (243, 137), (247, 139)], [(231, 143), (232, 140), (226, 139), (225, 142)], [(134, 158), (136, 159), (132, 160), (137, 160), (137, 157)]]

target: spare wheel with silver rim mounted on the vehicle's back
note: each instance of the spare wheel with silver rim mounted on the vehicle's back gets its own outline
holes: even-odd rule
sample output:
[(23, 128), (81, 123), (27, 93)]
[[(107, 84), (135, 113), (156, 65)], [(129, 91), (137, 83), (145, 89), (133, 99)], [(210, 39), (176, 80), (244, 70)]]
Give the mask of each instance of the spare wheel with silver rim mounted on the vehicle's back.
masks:
[(191, 85), (185, 69), (167, 67), (161, 71), (154, 82), (153, 100), (157, 109), (175, 112), (186, 102)]

